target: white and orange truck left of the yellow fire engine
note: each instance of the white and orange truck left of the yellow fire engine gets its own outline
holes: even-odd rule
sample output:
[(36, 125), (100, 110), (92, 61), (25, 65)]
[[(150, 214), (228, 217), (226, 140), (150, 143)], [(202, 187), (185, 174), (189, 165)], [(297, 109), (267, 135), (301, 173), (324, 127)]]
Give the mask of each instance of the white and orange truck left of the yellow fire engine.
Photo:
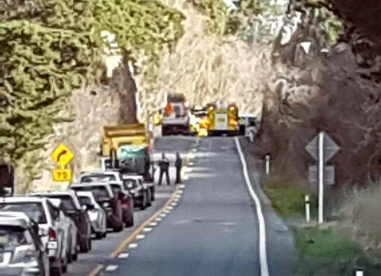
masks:
[(162, 106), (162, 135), (189, 134), (189, 103), (183, 94), (168, 93)]

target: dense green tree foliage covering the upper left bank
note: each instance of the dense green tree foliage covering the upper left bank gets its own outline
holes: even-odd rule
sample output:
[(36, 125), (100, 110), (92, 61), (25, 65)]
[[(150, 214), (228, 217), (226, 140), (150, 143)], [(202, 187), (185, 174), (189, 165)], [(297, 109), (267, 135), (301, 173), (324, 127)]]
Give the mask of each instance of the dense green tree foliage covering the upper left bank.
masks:
[(0, 7), (0, 149), (16, 162), (67, 119), (58, 117), (64, 99), (101, 77), (102, 30), (127, 58), (157, 64), (183, 19), (157, 0), (8, 1)]

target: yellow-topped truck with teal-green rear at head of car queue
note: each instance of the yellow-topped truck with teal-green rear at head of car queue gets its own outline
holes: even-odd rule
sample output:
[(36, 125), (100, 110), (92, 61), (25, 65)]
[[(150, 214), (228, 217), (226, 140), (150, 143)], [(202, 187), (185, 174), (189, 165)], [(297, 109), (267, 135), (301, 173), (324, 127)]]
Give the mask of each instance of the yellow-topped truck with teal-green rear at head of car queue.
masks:
[(144, 124), (104, 126), (101, 155), (112, 168), (149, 177), (152, 143)]

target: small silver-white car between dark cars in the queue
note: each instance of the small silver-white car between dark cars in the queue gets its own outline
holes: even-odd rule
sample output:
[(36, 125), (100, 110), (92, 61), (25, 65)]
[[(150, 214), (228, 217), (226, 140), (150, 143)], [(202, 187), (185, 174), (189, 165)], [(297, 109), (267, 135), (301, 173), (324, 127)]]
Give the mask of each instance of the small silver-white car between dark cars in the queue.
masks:
[(82, 206), (86, 206), (86, 211), (91, 221), (91, 231), (97, 239), (107, 236), (106, 212), (96, 202), (93, 192), (78, 191), (77, 197)]

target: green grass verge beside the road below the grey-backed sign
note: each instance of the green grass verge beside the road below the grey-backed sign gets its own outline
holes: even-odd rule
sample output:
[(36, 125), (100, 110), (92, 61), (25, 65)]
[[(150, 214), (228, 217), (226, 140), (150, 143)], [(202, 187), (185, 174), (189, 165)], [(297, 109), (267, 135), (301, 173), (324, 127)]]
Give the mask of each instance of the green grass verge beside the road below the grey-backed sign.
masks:
[[(279, 215), (293, 221), (290, 228), (299, 253), (295, 276), (353, 276), (357, 269), (363, 269), (367, 276), (381, 275), (381, 266), (371, 262), (360, 246), (340, 234), (335, 226), (306, 227), (304, 196), (310, 192), (308, 187), (290, 177), (272, 175), (262, 179), (262, 189)], [(314, 219), (317, 212), (314, 204), (311, 207)]]

